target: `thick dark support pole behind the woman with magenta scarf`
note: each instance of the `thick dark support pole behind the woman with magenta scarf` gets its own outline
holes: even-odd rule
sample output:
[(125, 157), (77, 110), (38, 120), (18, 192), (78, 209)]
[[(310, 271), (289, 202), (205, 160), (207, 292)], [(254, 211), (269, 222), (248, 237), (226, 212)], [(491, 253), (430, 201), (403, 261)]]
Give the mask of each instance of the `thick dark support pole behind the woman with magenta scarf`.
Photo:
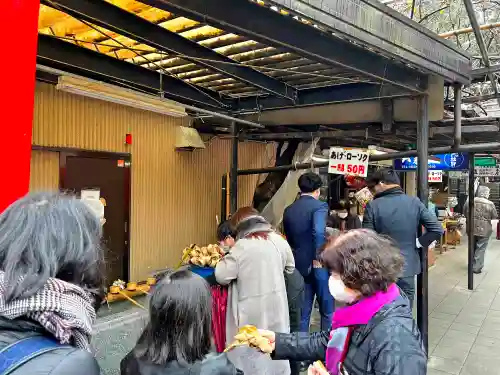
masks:
[[(429, 116), (428, 116), (428, 96), (417, 98), (417, 196), (427, 207), (429, 201)], [(422, 228), (419, 228), (422, 230)], [(429, 337), (429, 314), (428, 314), (428, 249), (421, 249), (422, 272), (417, 276), (417, 324), (422, 334), (422, 341), (427, 352)]]

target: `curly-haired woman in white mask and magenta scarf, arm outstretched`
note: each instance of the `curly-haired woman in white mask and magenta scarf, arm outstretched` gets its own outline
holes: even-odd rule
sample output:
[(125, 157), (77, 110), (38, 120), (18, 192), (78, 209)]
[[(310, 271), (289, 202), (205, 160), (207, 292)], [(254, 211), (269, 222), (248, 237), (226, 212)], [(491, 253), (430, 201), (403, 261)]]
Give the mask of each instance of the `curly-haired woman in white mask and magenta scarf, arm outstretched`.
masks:
[(325, 361), (309, 375), (425, 375), (427, 356), (408, 299), (396, 280), (403, 260), (388, 238), (366, 229), (334, 237), (319, 255), (330, 271), (329, 288), (345, 303), (331, 331), (273, 333), (273, 359)]

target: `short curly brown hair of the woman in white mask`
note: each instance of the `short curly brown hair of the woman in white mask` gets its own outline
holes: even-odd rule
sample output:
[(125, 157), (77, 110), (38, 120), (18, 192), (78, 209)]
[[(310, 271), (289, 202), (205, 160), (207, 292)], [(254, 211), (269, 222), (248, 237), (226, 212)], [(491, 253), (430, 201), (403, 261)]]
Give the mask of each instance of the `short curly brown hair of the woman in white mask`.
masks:
[(403, 271), (403, 257), (388, 237), (354, 229), (329, 239), (318, 259), (351, 289), (371, 296), (386, 291)]

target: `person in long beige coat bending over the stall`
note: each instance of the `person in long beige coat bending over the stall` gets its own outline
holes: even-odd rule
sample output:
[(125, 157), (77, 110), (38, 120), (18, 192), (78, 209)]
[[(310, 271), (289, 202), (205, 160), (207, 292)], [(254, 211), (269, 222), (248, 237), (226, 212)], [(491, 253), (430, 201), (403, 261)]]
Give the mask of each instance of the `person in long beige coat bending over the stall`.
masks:
[[(229, 285), (226, 342), (238, 329), (253, 325), (290, 332), (285, 272), (295, 268), (288, 242), (252, 208), (239, 209), (231, 219), (236, 243), (217, 264), (215, 278)], [(274, 361), (274, 374), (290, 373), (288, 361)]]

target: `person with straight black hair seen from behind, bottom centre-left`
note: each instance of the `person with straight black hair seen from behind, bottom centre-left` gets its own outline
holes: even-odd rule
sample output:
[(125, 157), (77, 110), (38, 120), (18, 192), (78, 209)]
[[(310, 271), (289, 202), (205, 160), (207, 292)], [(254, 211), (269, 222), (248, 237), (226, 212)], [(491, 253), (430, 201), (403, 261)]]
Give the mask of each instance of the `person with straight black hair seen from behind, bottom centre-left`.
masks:
[(211, 353), (212, 298), (202, 277), (186, 268), (154, 288), (149, 323), (121, 361), (122, 375), (242, 375), (227, 355)]

